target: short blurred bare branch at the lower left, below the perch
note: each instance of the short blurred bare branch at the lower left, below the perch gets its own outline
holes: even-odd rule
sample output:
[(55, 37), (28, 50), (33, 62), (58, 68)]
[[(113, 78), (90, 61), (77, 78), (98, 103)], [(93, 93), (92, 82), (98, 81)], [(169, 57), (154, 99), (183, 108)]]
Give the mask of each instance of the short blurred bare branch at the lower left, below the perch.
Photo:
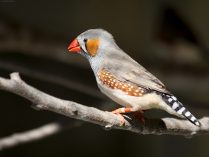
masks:
[(80, 124), (81, 123), (79, 122), (66, 124), (57, 121), (45, 124), (43, 126), (37, 127), (29, 131), (15, 133), (8, 137), (0, 138), (0, 150), (12, 148), (14, 146), (25, 144), (28, 142), (37, 141), (48, 136), (54, 135), (56, 133), (59, 133), (61, 131), (64, 131), (65, 129), (78, 127), (80, 126)]

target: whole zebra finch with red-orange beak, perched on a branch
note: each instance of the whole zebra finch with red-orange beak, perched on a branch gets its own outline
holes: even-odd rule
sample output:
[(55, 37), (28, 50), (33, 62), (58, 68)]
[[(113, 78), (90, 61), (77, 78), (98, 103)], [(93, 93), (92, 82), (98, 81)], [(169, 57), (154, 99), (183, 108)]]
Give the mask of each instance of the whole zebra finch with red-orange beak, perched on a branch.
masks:
[(81, 54), (89, 61), (100, 91), (122, 106), (112, 111), (122, 117), (122, 124), (125, 113), (160, 109), (201, 126), (157, 77), (116, 44), (108, 31), (89, 29), (69, 44), (68, 51)]

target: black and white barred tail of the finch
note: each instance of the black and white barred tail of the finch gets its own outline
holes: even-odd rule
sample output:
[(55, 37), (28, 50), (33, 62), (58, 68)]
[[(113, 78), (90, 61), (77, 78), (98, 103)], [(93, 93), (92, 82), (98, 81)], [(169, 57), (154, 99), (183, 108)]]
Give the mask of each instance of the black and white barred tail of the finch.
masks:
[(188, 119), (191, 123), (193, 123), (196, 126), (200, 126), (201, 123), (197, 120), (195, 116), (187, 110), (181, 102), (177, 100), (177, 98), (173, 95), (168, 94), (162, 94), (163, 100), (170, 105), (170, 107), (175, 110), (179, 115), (184, 116), (186, 119)]

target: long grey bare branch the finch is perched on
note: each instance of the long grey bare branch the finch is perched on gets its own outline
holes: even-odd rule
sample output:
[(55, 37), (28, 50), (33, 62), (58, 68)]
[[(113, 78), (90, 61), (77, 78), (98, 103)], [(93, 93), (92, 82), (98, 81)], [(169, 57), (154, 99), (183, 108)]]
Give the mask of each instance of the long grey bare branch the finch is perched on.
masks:
[(136, 118), (126, 120), (121, 126), (120, 118), (111, 113), (93, 107), (87, 107), (73, 101), (67, 101), (50, 96), (21, 80), (18, 73), (12, 73), (11, 79), (0, 78), (0, 89), (20, 95), (37, 104), (36, 107), (56, 112), (71, 118), (80, 119), (90, 123), (132, 131), (139, 134), (170, 134), (191, 136), (194, 134), (209, 133), (209, 117), (200, 119), (201, 127), (194, 126), (187, 120), (175, 118), (145, 119), (141, 124)]

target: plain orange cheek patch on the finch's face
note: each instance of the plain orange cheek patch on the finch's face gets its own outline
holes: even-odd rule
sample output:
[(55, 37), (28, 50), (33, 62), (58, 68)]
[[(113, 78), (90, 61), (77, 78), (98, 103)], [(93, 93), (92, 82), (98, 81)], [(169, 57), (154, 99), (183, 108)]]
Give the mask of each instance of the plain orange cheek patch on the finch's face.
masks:
[(89, 39), (86, 43), (86, 49), (88, 53), (94, 57), (97, 54), (99, 48), (99, 39)]

